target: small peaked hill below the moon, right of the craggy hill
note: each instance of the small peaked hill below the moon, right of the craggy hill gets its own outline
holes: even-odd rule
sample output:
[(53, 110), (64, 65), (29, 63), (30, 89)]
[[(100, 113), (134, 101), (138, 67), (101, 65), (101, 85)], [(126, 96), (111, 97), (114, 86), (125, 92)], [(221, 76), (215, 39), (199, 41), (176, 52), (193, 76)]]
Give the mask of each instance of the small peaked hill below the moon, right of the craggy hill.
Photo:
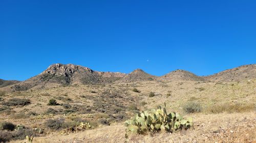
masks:
[(148, 74), (141, 69), (136, 69), (133, 72), (125, 75), (123, 78), (117, 82), (135, 82), (135, 81), (145, 81), (145, 80), (154, 80), (156, 76)]

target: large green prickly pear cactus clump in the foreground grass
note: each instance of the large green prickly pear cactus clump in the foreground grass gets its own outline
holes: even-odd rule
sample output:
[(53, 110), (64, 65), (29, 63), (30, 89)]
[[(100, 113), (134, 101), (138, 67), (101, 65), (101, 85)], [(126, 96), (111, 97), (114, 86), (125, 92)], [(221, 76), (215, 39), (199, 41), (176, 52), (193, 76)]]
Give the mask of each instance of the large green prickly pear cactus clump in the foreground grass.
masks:
[[(193, 119), (183, 119), (179, 113), (167, 113), (164, 107), (156, 107), (148, 111), (137, 113), (131, 120), (125, 121), (126, 133), (145, 134), (158, 131), (174, 132), (179, 129), (188, 129), (193, 126)], [(127, 137), (127, 134), (125, 134)]]

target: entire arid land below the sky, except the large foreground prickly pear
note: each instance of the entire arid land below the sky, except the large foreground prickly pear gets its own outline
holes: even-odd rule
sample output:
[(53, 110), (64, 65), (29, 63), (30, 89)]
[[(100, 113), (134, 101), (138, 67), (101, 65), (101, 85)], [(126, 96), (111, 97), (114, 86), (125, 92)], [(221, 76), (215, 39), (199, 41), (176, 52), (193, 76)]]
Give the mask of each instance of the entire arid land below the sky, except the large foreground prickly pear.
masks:
[[(193, 127), (125, 138), (126, 120), (164, 103), (167, 112), (192, 117)], [(53, 64), (25, 81), (1, 79), (0, 115), (0, 142), (28, 142), (28, 135), (33, 142), (254, 143), (256, 65), (154, 76)]]

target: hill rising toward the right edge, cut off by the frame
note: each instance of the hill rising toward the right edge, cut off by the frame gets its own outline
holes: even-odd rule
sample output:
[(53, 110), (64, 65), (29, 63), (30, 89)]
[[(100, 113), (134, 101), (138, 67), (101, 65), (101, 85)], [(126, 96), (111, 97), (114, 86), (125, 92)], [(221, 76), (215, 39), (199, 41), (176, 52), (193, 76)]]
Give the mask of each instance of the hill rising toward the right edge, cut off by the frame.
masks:
[(244, 65), (233, 69), (228, 69), (214, 75), (206, 76), (210, 81), (242, 81), (244, 79), (256, 78), (256, 64)]

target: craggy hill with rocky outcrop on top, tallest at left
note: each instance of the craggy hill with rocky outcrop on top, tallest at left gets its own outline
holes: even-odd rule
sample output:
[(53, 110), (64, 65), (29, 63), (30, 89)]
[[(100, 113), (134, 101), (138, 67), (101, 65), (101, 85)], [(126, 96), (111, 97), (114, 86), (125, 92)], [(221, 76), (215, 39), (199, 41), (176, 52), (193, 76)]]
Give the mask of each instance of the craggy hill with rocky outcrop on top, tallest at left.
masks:
[(109, 83), (122, 78), (124, 75), (119, 72), (98, 72), (73, 64), (53, 64), (39, 75), (10, 88), (13, 91), (25, 91), (32, 88), (42, 89), (63, 85)]

